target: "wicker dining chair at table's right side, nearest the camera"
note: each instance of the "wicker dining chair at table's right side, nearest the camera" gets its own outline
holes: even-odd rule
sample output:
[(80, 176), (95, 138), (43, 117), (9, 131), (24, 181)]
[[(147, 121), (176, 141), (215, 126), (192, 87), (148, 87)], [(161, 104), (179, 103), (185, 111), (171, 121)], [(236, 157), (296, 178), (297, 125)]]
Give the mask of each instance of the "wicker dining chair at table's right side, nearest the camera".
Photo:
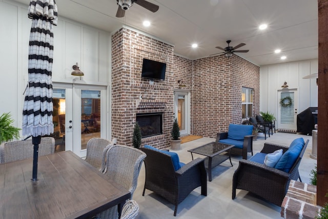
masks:
[[(131, 198), (138, 183), (142, 161), (146, 154), (139, 149), (121, 145), (109, 147), (104, 174), (131, 192)], [(97, 214), (96, 218), (118, 218), (117, 206)]]

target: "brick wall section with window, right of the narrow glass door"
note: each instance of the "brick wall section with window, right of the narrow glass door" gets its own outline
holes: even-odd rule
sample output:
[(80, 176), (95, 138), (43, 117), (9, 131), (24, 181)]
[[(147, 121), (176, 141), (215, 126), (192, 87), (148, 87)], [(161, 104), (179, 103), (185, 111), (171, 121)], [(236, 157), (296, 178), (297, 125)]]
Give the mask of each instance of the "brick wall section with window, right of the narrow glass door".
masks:
[(254, 89), (253, 112), (259, 112), (259, 67), (224, 55), (193, 62), (193, 134), (216, 137), (230, 123), (241, 123), (242, 87)]

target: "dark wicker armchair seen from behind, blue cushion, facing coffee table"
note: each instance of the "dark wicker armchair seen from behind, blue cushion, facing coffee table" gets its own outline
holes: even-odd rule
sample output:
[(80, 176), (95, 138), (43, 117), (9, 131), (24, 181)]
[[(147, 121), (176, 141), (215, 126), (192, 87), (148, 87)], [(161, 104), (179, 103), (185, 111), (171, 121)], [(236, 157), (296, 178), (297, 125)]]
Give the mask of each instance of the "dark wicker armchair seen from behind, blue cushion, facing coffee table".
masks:
[(178, 204), (195, 188), (201, 186), (201, 194), (207, 196), (207, 173), (203, 158), (196, 158), (175, 171), (169, 155), (147, 148), (140, 148), (147, 154), (145, 158), (145, 190), (151, 190), (175, 205), (176, 216)]

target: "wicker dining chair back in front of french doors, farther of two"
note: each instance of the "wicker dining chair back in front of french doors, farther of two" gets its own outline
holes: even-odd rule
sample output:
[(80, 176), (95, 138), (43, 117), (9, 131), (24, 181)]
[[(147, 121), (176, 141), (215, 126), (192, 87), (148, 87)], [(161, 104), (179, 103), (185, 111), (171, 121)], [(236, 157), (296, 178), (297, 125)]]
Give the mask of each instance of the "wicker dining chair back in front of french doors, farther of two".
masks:
[(106, 151), (113, 143), (107, 139), (93, 137), (87, 143), (86, 162), (103, 172), (106, 163)]

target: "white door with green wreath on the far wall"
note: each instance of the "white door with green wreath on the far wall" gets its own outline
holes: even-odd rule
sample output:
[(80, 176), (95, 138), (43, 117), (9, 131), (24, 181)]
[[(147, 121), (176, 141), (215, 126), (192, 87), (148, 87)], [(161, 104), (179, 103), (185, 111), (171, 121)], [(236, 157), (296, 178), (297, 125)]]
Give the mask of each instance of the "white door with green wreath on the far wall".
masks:
[(297, 89), (278, 90), (278, 129), (297, 130)]

